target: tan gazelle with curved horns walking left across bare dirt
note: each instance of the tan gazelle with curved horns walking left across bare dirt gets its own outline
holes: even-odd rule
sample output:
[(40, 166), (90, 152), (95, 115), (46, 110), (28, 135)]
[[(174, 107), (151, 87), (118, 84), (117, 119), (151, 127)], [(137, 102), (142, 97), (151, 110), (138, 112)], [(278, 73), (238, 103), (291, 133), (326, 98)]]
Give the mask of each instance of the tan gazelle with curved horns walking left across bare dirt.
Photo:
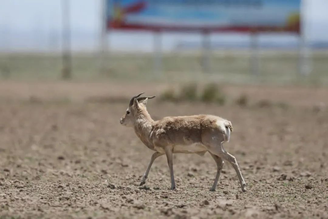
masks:
[[(223, 142), (229, 142), (233, 131), (230, 121), (212, 115), (164, 117), (154, 121), (149, 115), (146, 104), (153, 97), (140, 97), (144, 93), (134, 96), (130, 100), (125, 115), (120, 123), (133, 127), (135, 134), (151, 150), (155, 151), (144, 173), (140, 186), (146, 183), (150, 168), (154, 160), (166, 155), (170, 168), (171, 189), (175, 189), (173, 173), (174, 153), (196, 153), (203, 156), (207, 151), (217, 165), (214, 184), (210, 191), (215, 191), (221, 174), (223, 160), (228, 161), (236, 170), (241, 190), (245, 192), (245, 181), (241, 175), (236, 158), (223, 148)], [(144, 100), (139, 103), (140, 100)]]

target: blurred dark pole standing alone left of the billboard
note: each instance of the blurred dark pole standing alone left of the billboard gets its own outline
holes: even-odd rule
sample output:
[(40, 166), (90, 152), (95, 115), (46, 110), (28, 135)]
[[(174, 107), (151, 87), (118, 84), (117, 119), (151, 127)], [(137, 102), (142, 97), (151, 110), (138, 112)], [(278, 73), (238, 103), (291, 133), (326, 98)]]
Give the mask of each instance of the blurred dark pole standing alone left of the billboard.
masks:
[(72, 78), (72, 58), (71, 58), (71, 27), (70, 27), (70, 0), (62, 0), (62, 25), (63, 25), (63, 70), (62, 78)]

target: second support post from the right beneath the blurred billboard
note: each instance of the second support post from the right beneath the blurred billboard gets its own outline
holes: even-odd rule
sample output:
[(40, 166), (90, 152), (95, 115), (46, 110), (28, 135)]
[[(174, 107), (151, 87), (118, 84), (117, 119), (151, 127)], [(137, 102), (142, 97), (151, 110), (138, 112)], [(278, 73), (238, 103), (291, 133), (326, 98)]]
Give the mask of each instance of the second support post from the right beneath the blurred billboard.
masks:
[(259, 45), (258, 33), (251, 33), (251, 73), (254, 76), (259, 76)]

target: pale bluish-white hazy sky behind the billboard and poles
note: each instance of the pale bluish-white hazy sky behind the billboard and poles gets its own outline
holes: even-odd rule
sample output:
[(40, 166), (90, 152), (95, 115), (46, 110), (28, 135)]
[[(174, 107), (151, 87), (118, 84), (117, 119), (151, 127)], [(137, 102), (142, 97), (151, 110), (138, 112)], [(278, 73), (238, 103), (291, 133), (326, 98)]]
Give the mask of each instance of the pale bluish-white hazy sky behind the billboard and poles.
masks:
[[(328, 41), (328, 0), (304, 1), (306, 37), (309, 40)], [(100, 30), (100, 4), (101, 0), (71, 0), (73, 47), (83, 47), (84, 44), (88, 44), (87, 47), (90, 48), (97, 47)], [(5, 46), (7, 44), (15, 45), (15, 47), (21, 45), (32, 49), (42, 40), (49, 41), (50, 35), (53, 35), (53, 39), (50, 40), (59, 41), (61, 37), (61, 0), (1, 0), (0, 31), (2, 32), (2, 44)], [(17, 44), (13, 39), (20, 39), (22, 35), (26, 39)], [(218, 37), (224, 36), (224, 34), (217, 35), (220, 35)], [(150, 33), (115, 32), (111, 33), (109, 37), (112, 47), (136, 49), (152, 47)], [(169, 44), (176, 40), (198, 38), (197, 34), (166, 34), (163, 41)], [(140, 43), (136, 45), (135, 41)], [(27, 45), (27, 42), (30, 44)]]

